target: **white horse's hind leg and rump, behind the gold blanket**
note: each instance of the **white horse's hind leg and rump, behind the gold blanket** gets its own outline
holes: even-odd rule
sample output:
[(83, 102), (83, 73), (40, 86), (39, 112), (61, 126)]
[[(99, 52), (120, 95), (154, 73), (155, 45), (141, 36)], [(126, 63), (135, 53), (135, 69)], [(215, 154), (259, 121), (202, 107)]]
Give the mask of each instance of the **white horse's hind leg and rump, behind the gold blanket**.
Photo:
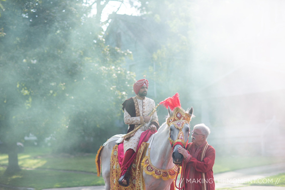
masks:
[(110, 159), (111, 152), (115, 146), (115, 141), (110, 142), (104, 146), (101, 152), (102, 176), (105, 181), (106, 190), (110, 190)]

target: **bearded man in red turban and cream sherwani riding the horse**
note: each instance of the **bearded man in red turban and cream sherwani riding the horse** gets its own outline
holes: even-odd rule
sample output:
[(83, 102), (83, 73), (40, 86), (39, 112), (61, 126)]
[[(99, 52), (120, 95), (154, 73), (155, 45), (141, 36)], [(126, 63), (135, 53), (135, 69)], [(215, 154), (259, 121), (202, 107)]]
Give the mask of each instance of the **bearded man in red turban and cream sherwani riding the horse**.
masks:
[[(137, 128), (140, 124), (143, 124), (139, 130), (133, 134), (125, 137), (124, 140), (124, 157), (121, 164), (121, 175), (119, 179), (119, 184), (122, 186), (128, 186), (129, 181), (127, 175), (127, 168), (130, 166), (130, 159), (133, 157), (137, 150), (141, 134), (150, 129), (156, 130), (159, 128), (158, 117), (156, 112), (151, 116), (148, 114), (154, 109), (154, 100), (146, 98), (148, 90), (148, 81), (141, 79), (135, 82), (133, 89), (136, 93), (135, 97), (127, 99), (122, 105), (124, 110), (124, 121), (125, 124), (129, 125), (128, 133)], [(125, 174), (126, 173), (126, 174)]]

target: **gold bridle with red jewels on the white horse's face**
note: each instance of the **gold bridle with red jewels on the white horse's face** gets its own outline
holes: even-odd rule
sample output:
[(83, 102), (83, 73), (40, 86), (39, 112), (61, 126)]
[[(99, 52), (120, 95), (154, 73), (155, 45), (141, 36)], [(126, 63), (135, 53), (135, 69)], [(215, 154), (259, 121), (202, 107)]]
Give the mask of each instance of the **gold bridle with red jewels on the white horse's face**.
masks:
[(176, 140), (172, 140), (170, 138), (170, 129), (169, 129), (168, 140), (170, 141), (170, 144), (171, 144), (172, 148), (176, 144), (180, 144), (181, 146), (183, 146), (183, 148), (186, 148), (187, 143), (188, 143), (189, 133), (188, 133), (188, 136), (187, 136), (187, 141), (184, 142), (184, 134), (183, 134), (182, 128), (184, 127), (185, 123), (189, 124), (190, 120), (191, 120), (190, 115), (188, 113), (184, 113), (184, 111), (182, 111), (178, 107), (175, 108), (175, 110), (173, 112), (173, 116), (169, 117), (167, 119), (168, 126), (171, 126), (173, 124), (175, 126), (175, 128), (177, 128), (179, 130)]

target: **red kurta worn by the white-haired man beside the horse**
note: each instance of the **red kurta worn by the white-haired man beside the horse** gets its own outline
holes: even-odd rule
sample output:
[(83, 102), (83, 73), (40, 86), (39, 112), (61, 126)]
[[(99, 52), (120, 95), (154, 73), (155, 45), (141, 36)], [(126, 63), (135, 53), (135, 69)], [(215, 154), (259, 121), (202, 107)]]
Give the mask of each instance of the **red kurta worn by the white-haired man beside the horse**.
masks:
[(187, 144), (186, 149), (192, 157), (190, 158), (190, 156), (188, 156), (188, 158), (185, 160), (185, 190), (202, 189), (202, 172), (205, 173), (205, 179), (203, 181), (206, 183), (206, 190), (215, 190), (215, 182), (213, 176), (215, 149), (212, 146), (208, 145), (208, 148), (205, 152), (205, 157), (201, 162), (201, 153), (205, 143), (203, 143), (198, 148), (196, 148), (195, 145), (190, 147), (190, 144), (192, 144), (192, 142)]

